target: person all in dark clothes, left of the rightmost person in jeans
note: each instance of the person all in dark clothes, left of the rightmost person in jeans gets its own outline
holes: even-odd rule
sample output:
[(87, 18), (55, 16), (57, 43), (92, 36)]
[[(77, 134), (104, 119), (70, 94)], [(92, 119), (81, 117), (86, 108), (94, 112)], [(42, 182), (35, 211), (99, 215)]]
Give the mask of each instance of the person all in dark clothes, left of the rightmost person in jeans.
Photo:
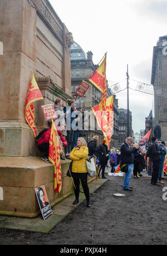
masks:
[(156, 142), (158, 139), (156, 137), (153, 137), (151, 139), (151, 146), (150, 146), (150, 152), (151, 152), (151, 160), (153, 162), (153, 172), (152, 172), (152, 177), (151, 177), (151, 184), (155, 186), (160, 186), (160, 184), (157, 182), (158, 181), (158, 174), (159, 174), (159, 163), (161, 160), (160, 157), (160, 151), (158, 144)]

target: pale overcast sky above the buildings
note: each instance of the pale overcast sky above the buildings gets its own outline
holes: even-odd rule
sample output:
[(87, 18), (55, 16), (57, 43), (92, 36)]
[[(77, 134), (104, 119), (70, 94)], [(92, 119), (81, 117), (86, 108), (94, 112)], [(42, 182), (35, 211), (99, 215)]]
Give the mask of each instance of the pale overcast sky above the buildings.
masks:
[[(109, 84), (126, 88), (129, 66), (129, 109), (132, 129), (145, 129), (145, 117), (153, 108), (154, 97), (134, 91), (137, 83), (151, 83), (153, 47), (167, 35), (166, 0), (50, 0), (57, 15), (72, 32), (73, 39), (94, 64), (107, 52), (106, 77)], [(132, 80), (133, 79), (133, 80)], [(119, 108), (127, 108), (127, 90), (116, 93)]]

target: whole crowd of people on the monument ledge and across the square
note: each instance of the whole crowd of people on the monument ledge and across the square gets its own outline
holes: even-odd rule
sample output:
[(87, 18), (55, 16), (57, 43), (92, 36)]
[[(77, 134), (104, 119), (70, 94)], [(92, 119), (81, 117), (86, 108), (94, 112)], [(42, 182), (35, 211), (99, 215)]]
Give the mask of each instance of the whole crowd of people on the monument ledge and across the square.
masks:
[[(71, 174), (75, 185), (76, 197), (73, 202), (74, 205), (79, 202), (81, 181), (87, 200), (87, 207), (91, 206), (89, 187), (87, 185), (86, 158), (88, 155), (95, 159), (99, 179), (106, 179), (106, 167), (110, 166), (111, 172), (114, 173), (119, 166), (120, 170), (125, 172), (123, 189), (126, 191), (132, 191), (132, 187), (130, 186), (132, 173), (135, 179), (141, 178), (141, 171), (143, 169), (146, 169), (148, 175), (151, 176), (151, 184), (160, 186), (160, 183), (164, 183), (161, 177), (166, 155), (164, 141), (161, 141), (158, 145), (156, 144), (157, 139), (153, 137), (146, 151), (143, 151), (139, 144), (134, 144), (131, 137), (126, 138), (120, 150), (114, 147), (109, 150), (105, 140), (102, 140), (102, 143), (99, 144), (99, 136), (97, 135), (86, 144), (84, 139), (85, 130), (82, 129), (84, 109), (78, 112), (73, 99), (68, 99), (68, 106), (63, 107), (63, 109), (62, 103), (62, 99), (60, 98), (55, 101), (54, 107), (58, 116), (55, 120), (55, 126), (62, 147), (61, 159), (65, 160), (67, 158), (72, 160)], [(78, 122), (80, 122), (82, 127), (79, 127)], [(42, 160), (46, 162), (50, 162), (48, 159), (50, 134), (51, 128), (44, 129), (36, 138), (38, 149), (45, 154)]]

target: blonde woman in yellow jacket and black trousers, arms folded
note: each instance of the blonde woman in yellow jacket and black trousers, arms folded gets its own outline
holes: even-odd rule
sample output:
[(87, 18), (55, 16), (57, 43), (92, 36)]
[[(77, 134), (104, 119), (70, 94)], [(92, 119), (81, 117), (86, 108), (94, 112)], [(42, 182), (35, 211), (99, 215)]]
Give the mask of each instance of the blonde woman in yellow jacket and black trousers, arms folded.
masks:
[(86, 158), (89, 151), (86, 145), (86, 141), (84, 138), (77, 139), (77, 145), (75, 148), (72, 149), (69, 157), (72, 160), (72, 178), (75, 184), (75, 201), (73, 205), (76, 205), (79, 202), (79, 193), (80, 193), (80, 179), (82, 188), (84, 189), (87, 207), (90, 207), (90, 200), (89, 200), (89, 187), (87, 185), (87, 167), (86, 167)]

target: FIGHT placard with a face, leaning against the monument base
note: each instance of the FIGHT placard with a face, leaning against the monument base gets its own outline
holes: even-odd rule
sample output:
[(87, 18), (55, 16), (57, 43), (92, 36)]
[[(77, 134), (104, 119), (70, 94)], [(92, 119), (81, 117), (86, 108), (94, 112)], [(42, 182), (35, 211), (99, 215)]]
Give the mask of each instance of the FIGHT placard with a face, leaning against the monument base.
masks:
[(35, 192), (41, 209), (42, 217), (44, 220), (46, 220), (53, 214), (53, 212), (47, 198), (45, 186), (43, 185), (35, 188)]

